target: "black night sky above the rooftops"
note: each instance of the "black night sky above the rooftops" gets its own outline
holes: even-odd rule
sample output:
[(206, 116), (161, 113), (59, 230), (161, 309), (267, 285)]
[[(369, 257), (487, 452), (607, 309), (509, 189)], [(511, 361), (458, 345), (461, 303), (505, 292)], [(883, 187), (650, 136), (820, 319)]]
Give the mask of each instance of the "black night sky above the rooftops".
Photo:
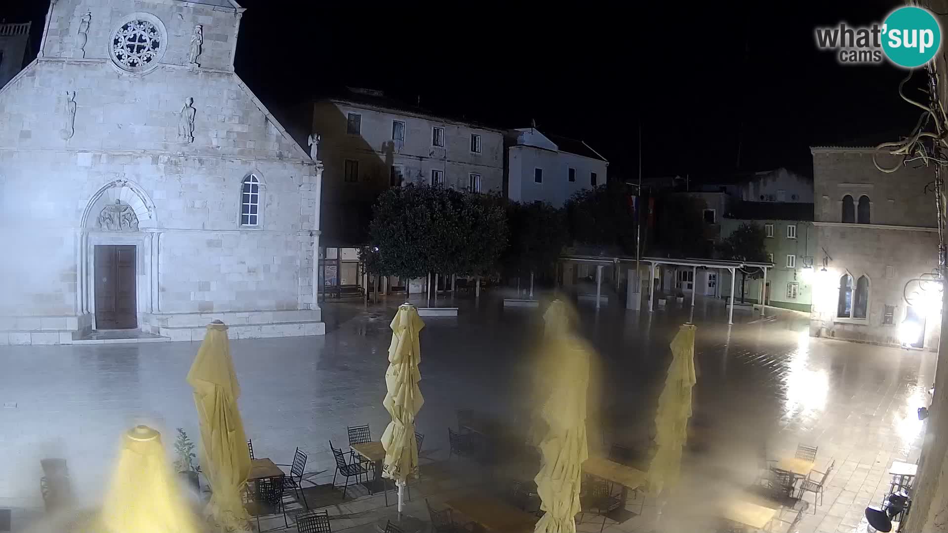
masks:
[[(918, 118), (897, 93), (904, 71), (842, 66), (812, 37), (816, 25), (880, 21), (896, 1), (612, 12), (461, 4), (443, 14), (238, 1), (236, 69), (269, 106), (348, 85), (499, 127), (536, 119), (588, 140), (611, 175), (636, 174), (640, 120), (645, 175), (703, 175), (735, 169), (738, 138), (742, 170), (810, 174), (811, 144), (888, 139)], [(0, 18), (42, 30), (46, 4), (6, 0)]]

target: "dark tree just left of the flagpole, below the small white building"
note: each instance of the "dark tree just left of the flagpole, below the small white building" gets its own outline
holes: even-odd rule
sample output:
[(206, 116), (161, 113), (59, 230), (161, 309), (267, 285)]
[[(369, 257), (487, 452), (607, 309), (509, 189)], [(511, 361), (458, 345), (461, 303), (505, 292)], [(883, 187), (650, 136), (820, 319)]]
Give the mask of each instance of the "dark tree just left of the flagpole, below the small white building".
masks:
[(574, 193), (566, 202), (566, 212), (574, 241), (635, 251), (635, 217), (620, 181)]

